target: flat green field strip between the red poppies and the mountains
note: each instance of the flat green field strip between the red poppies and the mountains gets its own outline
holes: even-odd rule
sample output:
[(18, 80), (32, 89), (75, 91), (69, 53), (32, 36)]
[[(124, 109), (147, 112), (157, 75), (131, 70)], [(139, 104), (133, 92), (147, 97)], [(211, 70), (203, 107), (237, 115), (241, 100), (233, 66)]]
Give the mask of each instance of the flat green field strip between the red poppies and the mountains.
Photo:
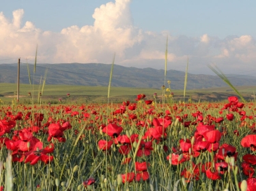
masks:
[[(248, 101), (254, 101), (254, 92), (256, 86), (238, 86), (236, 87)], [(40, 90), (40, 91), (39, 91)], [(16, 99), (16, 84), (0, 84), (0, 99), (5, 103), (11, 103)], [(29, 92), (33, 92), (35, 99), (38, 99), (38, 92), (42, 91), (42, 86), (29, 84), (20, 84), (20, 102), (27, 103), (31, 97)], [(70, 86), (70, 85), (45, 85), (42, 93), (42, 102), (57, 103), (61, 101), (77, 101), (77, 102), (96, 102), (105, 103), (107, 99), (108, 87), (106, 86)], [(171, 90), (173, 92), (173, 100), (183, 99), (183, 90)], [(67, 97), (67, 94), (70, 97)], [(162, 89), (156, 88), (122, 88), (111, 87), (110, 98), (113, 102), (126, 100), (134, 100), (137, 94), (146, 94), (147, 99), (153, 99), (153, 94), (158, 94), (158, 99), (162, 99)], [(168, 93), (168, 92), (166, 92)], [(186, 90), (186, 99), (192, 101), (222, 101), (231, 95), (236, 95), (229, 87), (222, 88), (205, 88), (196, 90)]]

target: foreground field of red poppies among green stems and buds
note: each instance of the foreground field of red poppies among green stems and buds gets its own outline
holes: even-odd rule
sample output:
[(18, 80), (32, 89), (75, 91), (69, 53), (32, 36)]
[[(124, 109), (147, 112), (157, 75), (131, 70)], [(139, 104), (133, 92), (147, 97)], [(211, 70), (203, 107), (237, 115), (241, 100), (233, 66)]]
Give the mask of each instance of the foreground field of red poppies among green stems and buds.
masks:
[(0, 190), (256, 190), (255, 103), (154, 98), (0, 103)]

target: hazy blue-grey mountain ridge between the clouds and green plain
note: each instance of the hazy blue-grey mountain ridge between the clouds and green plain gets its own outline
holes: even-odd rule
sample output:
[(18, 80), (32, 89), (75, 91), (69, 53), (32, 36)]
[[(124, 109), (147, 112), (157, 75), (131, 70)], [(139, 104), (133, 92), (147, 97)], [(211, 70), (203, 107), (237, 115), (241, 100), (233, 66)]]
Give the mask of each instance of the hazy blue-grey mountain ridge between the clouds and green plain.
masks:
[[(111, 65), (100, 63), (88, 64), (38, 64), (33, 78), (33, 65), (29, 65), (31, 80), (40, 83), (47, 71), (46, 84), (66, 84), (81, 86), (109, 86)], [(111, 86), (161, 88), (164, 85), (163, 69), (123, 67), (114, 65)], [(169, 70), (166, 80), (171, 80), (171, 88), (184, 88), (185, 72)], [(255, 86), (256, 77), (246, 75), (227, 75), (233, 86)], [(0, 83), (17, 82), (17, 64), (0, 65)], [(20, 64), (20, 83), (29, 84), (27, 65)], [(215, 75), (195, 75), (188, 73), (187, 89), (213, 88), (227, 86)]]

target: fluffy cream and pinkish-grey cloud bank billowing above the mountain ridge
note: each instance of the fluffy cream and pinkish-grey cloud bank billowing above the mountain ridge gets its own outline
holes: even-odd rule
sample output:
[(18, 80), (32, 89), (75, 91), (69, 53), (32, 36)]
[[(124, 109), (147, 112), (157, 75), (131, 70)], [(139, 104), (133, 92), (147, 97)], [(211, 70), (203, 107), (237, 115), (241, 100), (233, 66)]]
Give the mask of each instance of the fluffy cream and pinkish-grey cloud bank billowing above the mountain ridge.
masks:
[(225, 73), (255, 70), (256, 46), (251, 35), (210, 37), (173, 36), (168, 31), (143, 31), (132, 23), (130, 0), (115, 0), (96, 8), (94, 25), (70, 26), (60, 33), (42, 31), (32, 22), (22, 26), (23, 10), (15, 10), (12, 20), (0, 12), (0, 60), (35, 56), (40, 63), (115, 63), (126, 67), (163, 69), (168, 36), (168, 69), (210, 73), (215, 63)]

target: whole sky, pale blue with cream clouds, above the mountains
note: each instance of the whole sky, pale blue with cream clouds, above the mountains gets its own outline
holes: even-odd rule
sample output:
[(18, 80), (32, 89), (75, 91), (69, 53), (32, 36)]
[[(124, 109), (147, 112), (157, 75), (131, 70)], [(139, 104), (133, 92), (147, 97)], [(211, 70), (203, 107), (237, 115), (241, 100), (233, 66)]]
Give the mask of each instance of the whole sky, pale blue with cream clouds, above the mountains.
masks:
[(256, 1), (0, 0), (0, 64), (38, 47), (38, 64), (165, 69), (167, 47), (167, 69), (254, 75), (255, 18)]

